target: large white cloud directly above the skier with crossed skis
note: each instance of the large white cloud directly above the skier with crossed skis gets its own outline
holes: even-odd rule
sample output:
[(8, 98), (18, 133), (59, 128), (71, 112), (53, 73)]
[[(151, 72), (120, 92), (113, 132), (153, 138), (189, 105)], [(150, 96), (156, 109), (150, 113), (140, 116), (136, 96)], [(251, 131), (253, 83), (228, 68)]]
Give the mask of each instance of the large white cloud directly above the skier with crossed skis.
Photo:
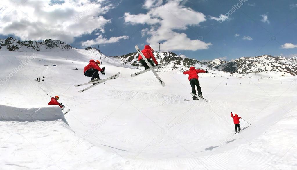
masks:
[(151, 8), (146, 14), (133, 15), (126, 12), (125, 23), (148, 24), (149, 28), (143, 29), (141, 33), (142, 36), (148, 36), (146, 42), (152, 48), (159, 48), (159, 42), (162, 42), (163, 51), (208, 49), (211, 43), (191, 40), (187, 34), (181, 32), (188, 26), (198, 26), (200, 22), (206, 21), (206, 16), (180, 3), (181, 0), (167, 1), (164, 5)]

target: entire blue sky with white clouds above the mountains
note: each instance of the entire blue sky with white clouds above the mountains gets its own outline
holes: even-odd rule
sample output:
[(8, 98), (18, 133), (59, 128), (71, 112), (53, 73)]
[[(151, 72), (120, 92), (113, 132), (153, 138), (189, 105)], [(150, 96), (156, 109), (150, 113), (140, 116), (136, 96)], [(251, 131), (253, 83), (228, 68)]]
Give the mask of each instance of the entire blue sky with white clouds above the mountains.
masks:
[[(136, 44), (140, 48), (150, 44), (158, 51), (161, 43), (160, 51), (173, 51), (200, 61), (215, 58), (230, 61), (263, 54), (297, 55), (294, 0), (103, 0), (90, 4), (85, 0), (48, 0), (47, 4), (19, 0), (17, 3), (22, 16), (13, 18), (14, 24), (9, 23), (12, 15), (8, 13), (9, 4), (6, 9), (0, 7), (3, 14), (0, 24), (4, 25), (0, 27), (1, 38), (52, 37), (76, 48), (96, 47), (99, 43), (106, 55), (134, 52)], [(42, 5), (48, 4), (47, 9), (51, 10), (42, 11)], [(40, 10), (26, 10), (28, 5)], [(5, 12), (8, 14), (4, 15)], [(230, 15), (226, 15), (228, 12)], [(30, 26), (21, 29), (18, 22)], [(52, 26), (48, 26), (51, 22)]]

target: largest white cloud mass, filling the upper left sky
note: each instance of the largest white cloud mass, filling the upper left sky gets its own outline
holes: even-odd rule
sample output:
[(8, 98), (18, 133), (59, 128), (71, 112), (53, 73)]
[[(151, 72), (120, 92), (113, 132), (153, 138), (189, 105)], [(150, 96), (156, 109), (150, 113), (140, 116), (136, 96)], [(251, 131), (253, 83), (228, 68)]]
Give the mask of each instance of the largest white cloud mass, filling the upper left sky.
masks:
[(72, 43), (75, 37), (105, 31), (105, 24), (110, 20), (102, 15), (113, 8), (106, 3), (106, 0), (96, 3), (30, 0), (23, 4), (5, 1), (6, 8), (0, 8), (0, 34), (12, 34), (21, 40), (56, 39)]

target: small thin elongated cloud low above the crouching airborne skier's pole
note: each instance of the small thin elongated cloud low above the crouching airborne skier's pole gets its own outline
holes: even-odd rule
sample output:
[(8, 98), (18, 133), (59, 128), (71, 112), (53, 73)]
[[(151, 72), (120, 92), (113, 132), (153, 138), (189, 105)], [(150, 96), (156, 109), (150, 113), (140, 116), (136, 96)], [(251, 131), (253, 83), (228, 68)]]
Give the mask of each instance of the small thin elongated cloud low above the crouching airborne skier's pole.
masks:
[(119, 42), (121, 39), (128, 39), (128, 36), (121, 36), (121, 37), (111, 37), (110, 39), (107, 39), (106, 37), (103, 37), (102, 35), (99, 35), (96, 39), (94, 40), (88, 40), (85, 42), (82, 42), (83, 47), (90, 47), (92, 45), (97, 45), (97, 44), (110, 44), (110, 43), (116, 43)]

